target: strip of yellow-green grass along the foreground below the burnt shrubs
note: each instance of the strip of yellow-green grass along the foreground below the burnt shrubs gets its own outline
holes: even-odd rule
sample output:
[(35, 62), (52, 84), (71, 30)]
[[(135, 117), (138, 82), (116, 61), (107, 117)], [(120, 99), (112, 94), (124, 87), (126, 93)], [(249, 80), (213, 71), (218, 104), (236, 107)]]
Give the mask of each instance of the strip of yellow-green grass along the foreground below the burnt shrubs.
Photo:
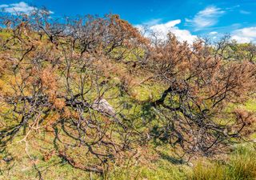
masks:
[[(35, 163), (42, 172), (44, 179), (103, 179), (96, 174), (90, 174), (82, 170), (72, 168), (61, 158), (52, 155), (49, 159), (39, 153), (39, 149), (49, 149), (50, 143), (37, 140), (30, 142), (28, 154), (25, 154), (25, 143), (14, 142), (10, 148), (16, 161), (9, 163), (1, 161), (0, 179), (38, 179), (38, 172), (34, 168)], [(160, 150), (159, 150), (160, 149)], [(152, 148), (153, 150), (153, 148)], [(156, 158), (150, 164), (137, 164), (134, 166), (114, 166), (106, 174), (107, 179), (254, 179), (256, 178), (256, 157), (253, 146), (238, 146), (237, 150), (229, 156), (219, 160), (198, 159), (193, 166), (187, 166), (178, 162), (168, 154), (167, 146), (158, 147), (162, 156)], [(23, 155), (22, 155), (23, 154)], [(7, 154), (2, 154), (3, 156)], [(7, 156), (8, 157), (8, 156)]]

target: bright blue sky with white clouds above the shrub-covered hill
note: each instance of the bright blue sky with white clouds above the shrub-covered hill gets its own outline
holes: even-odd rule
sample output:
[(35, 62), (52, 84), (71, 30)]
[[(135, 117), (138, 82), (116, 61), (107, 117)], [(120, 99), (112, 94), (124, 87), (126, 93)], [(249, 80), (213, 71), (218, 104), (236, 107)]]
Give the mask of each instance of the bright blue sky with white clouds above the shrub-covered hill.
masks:
[(226, 33), (238, 42), (256, 42), (256, 0), (0, 0), (0, 8), (9, 13), (29, 14), (31, 6), (45, 6), (52, 17), (120, 14), (139, 29), (148, 26), (162, 37), (171, 31), (188, 42)]

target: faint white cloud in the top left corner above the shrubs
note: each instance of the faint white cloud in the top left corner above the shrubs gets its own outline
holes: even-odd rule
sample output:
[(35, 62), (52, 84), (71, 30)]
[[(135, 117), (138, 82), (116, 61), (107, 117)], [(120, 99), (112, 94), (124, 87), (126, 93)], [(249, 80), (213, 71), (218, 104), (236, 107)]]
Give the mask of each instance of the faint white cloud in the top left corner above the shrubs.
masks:
[[(13, 4), (2, 4), (0, 8), (10, 14), (22, 13), (22, 14), (31, 14), (34, 10), (38, 10), (34, 6), (29, 6), (26, 2), (18, 2)], [(50, 14), (54, 14), (54, 12), (49, 11)]]

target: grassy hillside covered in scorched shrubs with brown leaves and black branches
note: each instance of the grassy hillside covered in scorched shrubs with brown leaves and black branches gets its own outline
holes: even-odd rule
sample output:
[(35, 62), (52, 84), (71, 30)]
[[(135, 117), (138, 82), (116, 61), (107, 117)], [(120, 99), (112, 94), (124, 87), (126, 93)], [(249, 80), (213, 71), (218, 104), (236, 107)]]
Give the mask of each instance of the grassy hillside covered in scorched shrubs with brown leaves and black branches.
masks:
[(108, 14), (1, 18), (1, 179), (256, 178), (256, 46)]

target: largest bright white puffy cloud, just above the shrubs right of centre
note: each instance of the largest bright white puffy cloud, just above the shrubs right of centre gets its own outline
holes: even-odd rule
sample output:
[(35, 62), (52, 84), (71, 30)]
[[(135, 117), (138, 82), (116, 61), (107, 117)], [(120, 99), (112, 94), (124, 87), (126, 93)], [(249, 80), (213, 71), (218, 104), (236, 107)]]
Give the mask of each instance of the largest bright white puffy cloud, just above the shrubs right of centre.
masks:
[[(180, 19), (166, 22), (166, 23), (159, 23), (152, 26), (148, 26), (148, 30), (150, 33), (154, 33), (157, 35), (159, 39), (166, 40), (168, 33), (173, 33), (178, 38), (179, 41), (187, 41), (188, 43), (192, 43), (197, 36), (190, 34), (189, 30), (180, 30), (176, 25), (180, 24), (182, 21)], [(138, 30), (143, 31), (142, 25), (136, 26)], [(146, 37), (150, 38), (150, 33), (145, 34)]]

